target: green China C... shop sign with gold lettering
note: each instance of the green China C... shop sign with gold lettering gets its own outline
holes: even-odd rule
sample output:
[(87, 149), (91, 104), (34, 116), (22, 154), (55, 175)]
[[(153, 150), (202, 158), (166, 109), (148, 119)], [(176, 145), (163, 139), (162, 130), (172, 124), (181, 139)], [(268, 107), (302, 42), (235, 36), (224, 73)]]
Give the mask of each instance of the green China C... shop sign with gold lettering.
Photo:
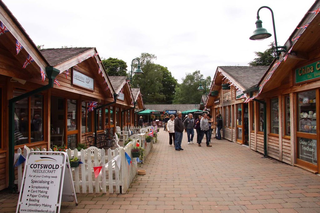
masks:
[(320, 61), (296, 69), (296, 83), (320, 77)]

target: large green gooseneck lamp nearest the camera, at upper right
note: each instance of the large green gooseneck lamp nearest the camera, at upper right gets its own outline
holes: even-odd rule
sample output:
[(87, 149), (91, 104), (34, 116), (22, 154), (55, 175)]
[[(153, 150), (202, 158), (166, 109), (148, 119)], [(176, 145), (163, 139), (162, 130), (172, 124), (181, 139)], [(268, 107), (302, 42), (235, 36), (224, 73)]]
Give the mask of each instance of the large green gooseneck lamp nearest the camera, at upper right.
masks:
[(260, 20), (260, 16), (259, 16), (259, 11), (262, 8), (267, 8), (267, 9), (269, 9), (271, 11), (272, 24), (273, 24), (273, 33), (275, 35), (276, 57), (277, 57), (277, 59), (279, 59), (278, 53), (279, 52), (286, 52), (287, 51), (287, 47), (286, 46), (278, 46), (277, 36), (276, 36), (276, 27), (275, 27), (275, 19), (274, 19), (274, 16), (273, 16), (273, 11), (271, 10), (270, 7), (262, 6), (262, 7), (259, 8), (259, 10), (257, 12), (257, 19), (258, 20), (256, 21), (256, 27), (257, 28), (253, 31), (253, 35), (250, 36), (250, 39), (251, 40), (263, 40), (263, 39), (269, 38), (271, 36), (271, 34), (268, 33), (265, 28), (262, 27), (262, 21)]

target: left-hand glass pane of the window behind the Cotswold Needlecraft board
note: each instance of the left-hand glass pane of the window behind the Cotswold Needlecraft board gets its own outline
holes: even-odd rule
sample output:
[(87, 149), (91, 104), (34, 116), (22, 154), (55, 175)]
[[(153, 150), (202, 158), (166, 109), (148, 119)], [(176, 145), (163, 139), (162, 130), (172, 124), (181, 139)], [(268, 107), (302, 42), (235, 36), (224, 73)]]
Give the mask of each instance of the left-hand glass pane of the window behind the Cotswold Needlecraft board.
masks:
[[(23, 92), (13, 91), (13, 97), (22, 95)], [(28, 143), (29, 121), (28, 121), (28, 98), (15, 103), (14, 108), (14, 145)]]

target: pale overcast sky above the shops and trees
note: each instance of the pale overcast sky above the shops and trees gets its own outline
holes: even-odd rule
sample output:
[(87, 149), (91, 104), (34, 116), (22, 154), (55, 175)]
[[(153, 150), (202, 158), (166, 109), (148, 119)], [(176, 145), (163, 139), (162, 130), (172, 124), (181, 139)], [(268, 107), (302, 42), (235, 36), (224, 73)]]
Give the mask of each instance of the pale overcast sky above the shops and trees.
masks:
[[(257, 10), (269, 6), (283, 45), (314, 0), (3, 0), (36, 45), (96, 47), (100, 57), (131, 61), (142, 52), (168, 67), (181, 83), (186, 72), (211, 76), (217, 66), (247, 66), (263, 41), (249, 37)], [(273, 34), (271, 13), (259, 13)]]

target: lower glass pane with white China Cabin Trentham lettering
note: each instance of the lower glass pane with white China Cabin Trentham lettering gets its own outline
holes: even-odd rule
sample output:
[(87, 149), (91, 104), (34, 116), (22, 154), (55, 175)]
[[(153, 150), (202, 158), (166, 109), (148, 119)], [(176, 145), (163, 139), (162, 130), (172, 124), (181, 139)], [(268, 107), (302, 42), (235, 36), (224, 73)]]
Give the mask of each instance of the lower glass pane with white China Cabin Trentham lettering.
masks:
[(298, 138), (298, 158), (311, 164), (317, 164), (317, 141)]

